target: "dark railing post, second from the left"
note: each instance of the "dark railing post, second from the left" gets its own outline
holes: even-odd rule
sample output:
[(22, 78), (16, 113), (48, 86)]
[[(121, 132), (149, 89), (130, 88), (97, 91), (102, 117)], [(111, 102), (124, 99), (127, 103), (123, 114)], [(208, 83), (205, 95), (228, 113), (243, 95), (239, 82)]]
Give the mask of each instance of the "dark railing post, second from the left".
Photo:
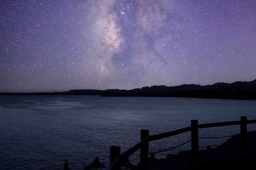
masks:
[[(149, 136), (149, 130), (141, 129), (140, 140), (146, 139)], [(140, 162), (143, 170), (148, 170), (148, 142), (140, 148)]]

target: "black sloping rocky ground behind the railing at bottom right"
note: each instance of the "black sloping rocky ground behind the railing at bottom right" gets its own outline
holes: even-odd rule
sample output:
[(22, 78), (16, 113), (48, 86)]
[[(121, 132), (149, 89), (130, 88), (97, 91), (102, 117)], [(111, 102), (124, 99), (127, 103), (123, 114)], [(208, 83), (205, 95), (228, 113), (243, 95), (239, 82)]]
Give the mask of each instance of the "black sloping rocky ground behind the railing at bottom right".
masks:
[(256, 131), (247, 132), (247, 150), (240, 150), (240, 134), (214, 149), (200, 150), (199, 159), (191, 159), (191, 151), (169, 155), (167, 159), (150, 161), (150, 170), (255, 170)]

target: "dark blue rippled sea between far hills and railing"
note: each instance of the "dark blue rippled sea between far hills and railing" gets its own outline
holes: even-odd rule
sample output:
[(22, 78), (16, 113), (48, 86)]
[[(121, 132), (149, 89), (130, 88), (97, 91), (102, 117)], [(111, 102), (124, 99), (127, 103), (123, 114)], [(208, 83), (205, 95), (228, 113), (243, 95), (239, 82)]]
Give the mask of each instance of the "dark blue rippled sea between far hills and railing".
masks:
[[(110, 146), (121, 153), (137, 144), (140, 130), (149, 135), (198, 124), (256, 119), (256, 100), (172, 97), (101, 97), (88, 95), (0, 95), (0, 167), (2, 170), (83, 170), (95, 157), (109, 164)], [(248, 124), (247, 130), (256, 130)], [(225, 137), (240, 126), (199, 129), (199, 137)], [(186, 132), (152, 141), (149, 152), (157, 159), (190, 150)], [(200, 150), (228, 138), (200, 139)], [(139, 161), (139, 151), (129, 157)]]

